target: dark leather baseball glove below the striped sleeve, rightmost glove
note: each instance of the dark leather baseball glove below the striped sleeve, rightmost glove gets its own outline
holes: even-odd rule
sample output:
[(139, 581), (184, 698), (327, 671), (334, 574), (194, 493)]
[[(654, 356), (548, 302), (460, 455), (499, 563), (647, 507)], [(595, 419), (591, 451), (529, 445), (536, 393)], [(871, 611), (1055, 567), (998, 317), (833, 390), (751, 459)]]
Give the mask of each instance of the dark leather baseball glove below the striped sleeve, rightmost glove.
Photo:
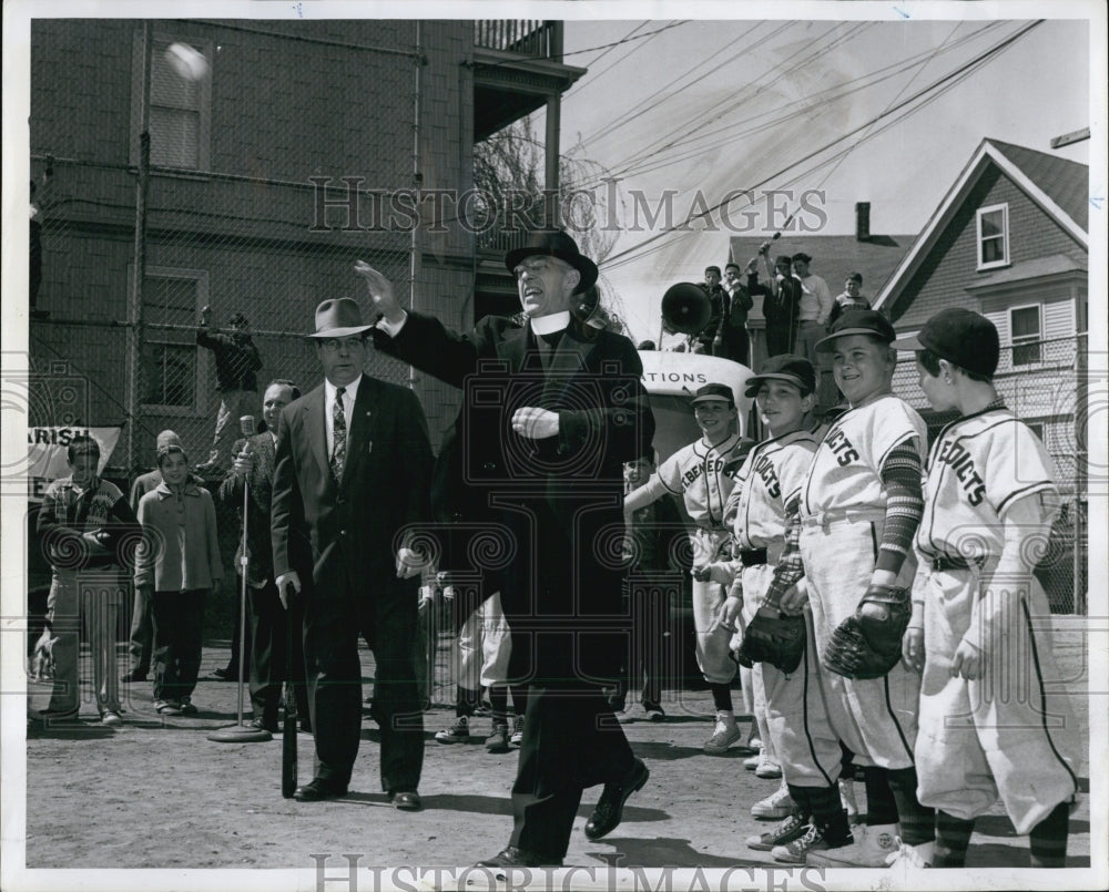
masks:
[(854, 615), (832, 632), (824, 668), (847, 678), (881, 678), (901, 659), (912, 614), (907, 588), (868, 586)]

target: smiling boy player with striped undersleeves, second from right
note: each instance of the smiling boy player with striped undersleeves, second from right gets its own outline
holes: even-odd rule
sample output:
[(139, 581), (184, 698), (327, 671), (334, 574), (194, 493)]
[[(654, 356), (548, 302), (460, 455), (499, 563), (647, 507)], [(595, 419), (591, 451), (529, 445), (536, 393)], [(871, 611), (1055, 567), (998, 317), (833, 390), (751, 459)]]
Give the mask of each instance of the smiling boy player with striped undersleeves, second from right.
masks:
[[(845, 314), (817, 345), (831, 353), (849, 408), (817, 447), (788, 513), (785, 553), (763, 609), (796, 614), (807, 597), (816, 656), (825, 667), (834, 665), (828, 662), (833, 633), (858, 622), (871, 592), (907, 588), (916, 572), (912, 544), (923, 509), (927, 430), (892, 392), (895, 337), (882, 314), (857, 310)], [(806, 585), (795, 587), (802, 577)], [(896, 648), (903, 628), (895, 627), (885, 644)], [(896, 660), (877, 677), (828, 671), (825, 678), (832, 729), (863, 767), (866, 826), (842, 845), (814, 823), (790, 843), (790, 860), (803, 854), (816, 867), (882, 867), (898, 853), (898, 832), (907, 853), (927, 860), (935, 817), (917, 800), (913, 750), (919, 676)]]

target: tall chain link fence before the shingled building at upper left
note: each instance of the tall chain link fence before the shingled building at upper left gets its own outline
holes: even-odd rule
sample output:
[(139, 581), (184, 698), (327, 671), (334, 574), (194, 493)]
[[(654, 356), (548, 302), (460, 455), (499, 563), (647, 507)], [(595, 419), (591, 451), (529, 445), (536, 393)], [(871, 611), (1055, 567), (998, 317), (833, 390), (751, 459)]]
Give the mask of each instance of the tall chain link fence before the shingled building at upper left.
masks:
[[(321, 380), (303, 337), (321, 300), (354, 296), (369, 317), (356, 257), (410, 299), (415, 225), (381, 214), (416, 213), (404, 192), (417, 171), (418, 27), (34, 21), (30, 426), (61, 423), (75, 382), (72, 423), (122, 426), (109, 476), (152, 466), (166, 428), (200, 463), (226, 385), (197, 344), (202, 308), (225, 335), (235, 314), (247, 320), (261, 367), (242, 410), (261, 421), (269, 380)], [(179, 73), (174, 43), (207, 72)], [(407, 380), (370, 356), (370, 373)]]

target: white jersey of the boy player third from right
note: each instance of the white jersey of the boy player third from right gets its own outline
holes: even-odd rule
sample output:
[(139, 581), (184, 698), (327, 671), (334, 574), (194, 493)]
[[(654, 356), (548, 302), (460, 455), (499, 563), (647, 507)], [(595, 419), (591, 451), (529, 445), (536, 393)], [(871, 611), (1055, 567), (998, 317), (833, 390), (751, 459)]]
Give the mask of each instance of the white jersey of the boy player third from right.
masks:
[(812, 431), (800, 430), (747, 453), (724, 510), (741, 548), (765, 548), (785, 535), (785, 505), (805, 482), (818, 444)]

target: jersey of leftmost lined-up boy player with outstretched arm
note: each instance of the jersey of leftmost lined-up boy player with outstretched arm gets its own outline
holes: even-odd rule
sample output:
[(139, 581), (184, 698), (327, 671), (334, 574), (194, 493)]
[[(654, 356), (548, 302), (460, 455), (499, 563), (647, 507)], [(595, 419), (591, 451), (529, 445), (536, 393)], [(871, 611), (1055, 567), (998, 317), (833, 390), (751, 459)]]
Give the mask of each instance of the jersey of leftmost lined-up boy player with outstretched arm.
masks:
[(662, 495), (662, 491), (681, 495), (685, 511), (698, 526), (719, 529), (723, 526), (724, 503), (749, 442), (739, 433), (714, 447), (698, 440), (660, 464), (647, 485), (659, 490), (652, 491), (654, 498)]

